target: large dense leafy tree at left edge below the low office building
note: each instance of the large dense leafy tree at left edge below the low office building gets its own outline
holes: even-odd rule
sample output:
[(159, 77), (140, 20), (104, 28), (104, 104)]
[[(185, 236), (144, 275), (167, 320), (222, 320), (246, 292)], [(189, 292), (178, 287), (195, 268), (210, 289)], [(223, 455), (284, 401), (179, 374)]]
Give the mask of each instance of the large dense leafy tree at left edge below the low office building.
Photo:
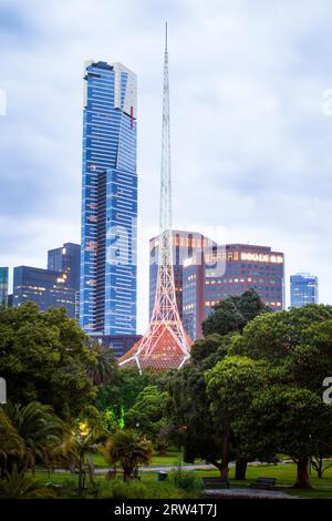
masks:
[(95, 396), (86, 368), (95, 355), (64, 309), (41, 313), (33, 303), (0, 309), (0, 375), (12, 402), (51, 405), (75, 417)]

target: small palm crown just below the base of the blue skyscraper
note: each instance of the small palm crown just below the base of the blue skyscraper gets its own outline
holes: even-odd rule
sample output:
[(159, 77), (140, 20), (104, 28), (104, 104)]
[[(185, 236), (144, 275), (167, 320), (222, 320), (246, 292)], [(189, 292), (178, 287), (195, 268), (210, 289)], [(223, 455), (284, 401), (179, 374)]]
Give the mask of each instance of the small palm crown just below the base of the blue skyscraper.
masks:
[(110, 384), (114, 377), (117, 364), (116, 358), (111, 349), (100, 345), (95, 340), (91, 340), (89, 347), (95, 355), (95, 360), (87, 366), (86, 374), (95, 386), (105, 386)]

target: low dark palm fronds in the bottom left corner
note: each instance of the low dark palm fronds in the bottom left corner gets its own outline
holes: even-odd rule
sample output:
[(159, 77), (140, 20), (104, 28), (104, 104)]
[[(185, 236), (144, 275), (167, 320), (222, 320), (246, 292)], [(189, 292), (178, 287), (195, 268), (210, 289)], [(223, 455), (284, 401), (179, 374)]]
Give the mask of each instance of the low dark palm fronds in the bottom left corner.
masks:
[(4, 479), (0, 481), (1, 499), (51, 499), (55, 498), (54, 491), (42, 487), (37, 479), (24, 476), (24, 471), (13, 466), (11, 473), (4, 472)]

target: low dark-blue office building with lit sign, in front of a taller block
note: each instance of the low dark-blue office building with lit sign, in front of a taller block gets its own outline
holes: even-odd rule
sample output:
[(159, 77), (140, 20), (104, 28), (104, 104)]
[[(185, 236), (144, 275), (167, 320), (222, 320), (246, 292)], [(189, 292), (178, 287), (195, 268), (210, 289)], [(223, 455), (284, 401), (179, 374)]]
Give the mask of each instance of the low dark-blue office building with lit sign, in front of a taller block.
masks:
[(34, 302), (42, 311), (64, 307), (75, 318), (75, 290), (65, 273), (30, 266), (18, 266), (13, 272), (13, 306)]

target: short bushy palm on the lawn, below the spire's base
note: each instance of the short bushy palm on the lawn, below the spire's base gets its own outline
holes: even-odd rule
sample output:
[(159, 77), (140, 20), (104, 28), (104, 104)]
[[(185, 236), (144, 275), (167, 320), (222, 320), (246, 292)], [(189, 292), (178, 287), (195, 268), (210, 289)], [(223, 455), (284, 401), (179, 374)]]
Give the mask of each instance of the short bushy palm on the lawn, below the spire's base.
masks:
[(123, 469), (123, 479), (133, 479), (139, 464), (148, 464), (153, 454), (151, 441), (134, 430), (118, 430), (112, 439), (101, 447), (100, 452), (111, 467), (117, 463)]

